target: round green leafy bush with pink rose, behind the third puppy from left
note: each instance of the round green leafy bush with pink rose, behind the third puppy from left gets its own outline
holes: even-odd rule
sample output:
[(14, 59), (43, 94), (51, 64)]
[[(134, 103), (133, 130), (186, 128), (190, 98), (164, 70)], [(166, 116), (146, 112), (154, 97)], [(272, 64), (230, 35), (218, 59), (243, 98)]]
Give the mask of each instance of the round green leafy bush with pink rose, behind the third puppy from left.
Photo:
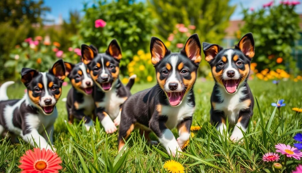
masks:
[[(111, 40), (116, 38), (123, 51), (120, 65), (125, 67), (138, 50), (146, 50), (149, 46), (154, 22), (146, 9), (143, 2), (132, 0), (100, 0), (91, 8), (85, 5), (85, 15), (79, 25), (82, 43), (93, 44), (99, 52), (104, 52)], [(104, 20), (107, 25), (95, 28), (97, 19)]]

